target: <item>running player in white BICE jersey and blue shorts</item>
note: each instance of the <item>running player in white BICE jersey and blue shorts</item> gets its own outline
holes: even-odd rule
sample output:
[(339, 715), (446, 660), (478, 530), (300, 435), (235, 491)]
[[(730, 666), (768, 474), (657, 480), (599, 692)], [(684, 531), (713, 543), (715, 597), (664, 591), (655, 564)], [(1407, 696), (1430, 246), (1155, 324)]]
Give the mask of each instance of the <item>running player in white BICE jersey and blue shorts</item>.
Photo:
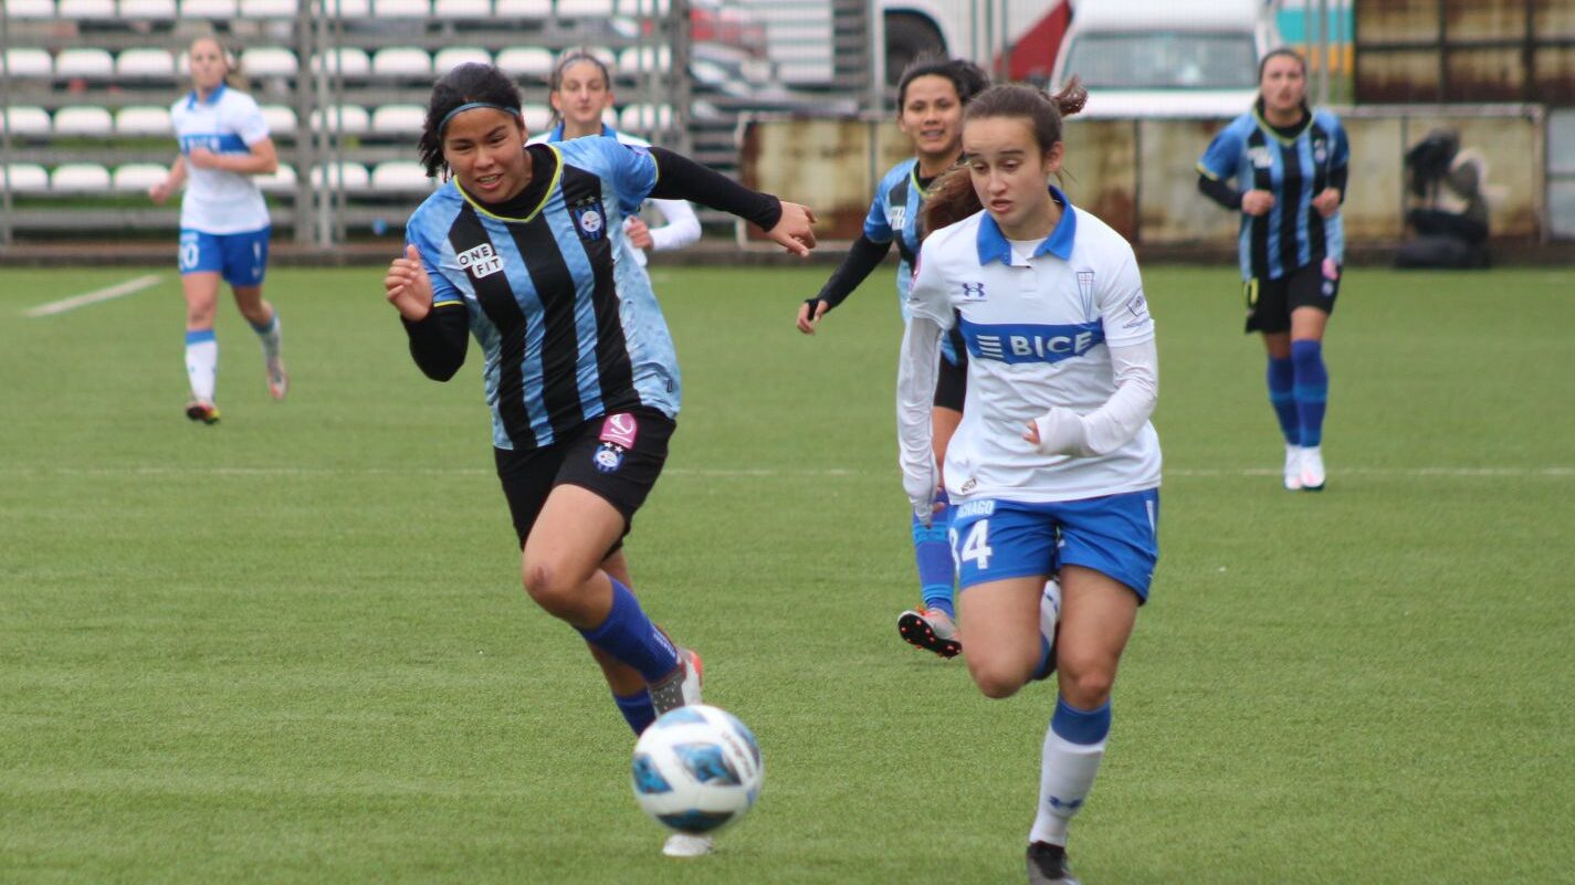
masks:
[[(973, 682), (1006, 698), (1058, 674), (1028, 833), (1033, 885), (1076, 882), (1066, 825), (1104, 756), (1117, 663), (1158, 559), (1148, 416), (1159, 368), (1137, 263), (1118, 233), (1049, 186), (1065, 159), (1062, 117), (1085, 98), (1073, 82), (1054, 99), (994, 87), (969, 104), (965, 168), (931, 189), (934, 233), (898, 372), (902, 482), (923, 520), (940, 479), (929, 441), (939, 343), (961, 328), (969, 395), (940, 476)], [(1057, 561), (1058, 611), (1046, 592)]]

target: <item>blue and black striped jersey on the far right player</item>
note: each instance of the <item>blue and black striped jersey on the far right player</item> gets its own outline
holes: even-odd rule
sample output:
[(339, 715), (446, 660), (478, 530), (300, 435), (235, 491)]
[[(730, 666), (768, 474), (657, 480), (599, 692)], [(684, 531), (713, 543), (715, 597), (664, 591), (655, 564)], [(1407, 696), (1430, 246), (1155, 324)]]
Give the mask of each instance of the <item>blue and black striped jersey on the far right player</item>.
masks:
[(1274, 208), (1241, 216), (1241, 277), (1277, 280), (1323, 258), (1345, 260), (1345, 227), (1312, 206), (1331, 180), (1342, 180), (1350, 143), (1340, 120), (1314, 110), (1295, 137), (1269, 126), (1257, 109), (1230, 121), (1203, 151), (1197, 170), (1243, 191), (1268, 191)]

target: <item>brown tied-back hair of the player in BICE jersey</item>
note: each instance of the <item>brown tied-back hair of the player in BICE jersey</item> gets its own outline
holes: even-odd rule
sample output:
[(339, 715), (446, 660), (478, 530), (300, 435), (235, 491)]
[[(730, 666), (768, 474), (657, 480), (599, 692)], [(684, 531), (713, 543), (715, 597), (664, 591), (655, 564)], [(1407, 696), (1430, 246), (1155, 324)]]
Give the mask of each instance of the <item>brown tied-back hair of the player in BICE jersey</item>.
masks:
[[(1046, 153), (1062, 140), (1062, 118), (1077, 113), (1087, 102), (1088, 90), (1077, 77), (1073, 77), (1055, 94), (1032, 87), (999, 85), (984, 90), (969, 102), (962, 112), (962, 124), (967, 128), (972, 120), (999, 117), (1024, 120), (1028, 123), (1040, 151)], [(921, 230), (926, 236), (984, 208), (973, 189), (967, 154), (962, 156), (962, 162), (964, 165), (937, 178), (925, 197)]]

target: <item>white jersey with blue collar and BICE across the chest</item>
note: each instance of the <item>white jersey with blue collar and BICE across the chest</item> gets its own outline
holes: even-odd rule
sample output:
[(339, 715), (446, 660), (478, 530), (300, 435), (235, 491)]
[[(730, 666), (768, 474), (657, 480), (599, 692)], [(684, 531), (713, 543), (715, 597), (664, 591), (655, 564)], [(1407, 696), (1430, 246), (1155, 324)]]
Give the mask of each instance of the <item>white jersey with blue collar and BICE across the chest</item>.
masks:
[(1132, 247), (1051, 191), (1065, 213), (1028, 257), (984, 211), (920, 250), (909, 312), (950, 329), (956, 310), (969, 348), (962, 425), (947, 447), (953, 501), (1079, 501), (1159, 485), (1159, 436), (1147, 420), (1107, 455), (1044, 455), (1022, 438), (1052, 406), (1106, 405), (1117, 389), (1109, 348), (1154, 337)]

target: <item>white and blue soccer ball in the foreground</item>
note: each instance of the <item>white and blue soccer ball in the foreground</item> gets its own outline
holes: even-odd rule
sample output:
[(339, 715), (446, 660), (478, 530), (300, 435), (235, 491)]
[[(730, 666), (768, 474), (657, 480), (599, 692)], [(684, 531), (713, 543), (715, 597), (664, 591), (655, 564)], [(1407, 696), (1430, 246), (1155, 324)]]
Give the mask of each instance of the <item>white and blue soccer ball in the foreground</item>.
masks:
[(710, 833), (743, 817), (764, 779), (754, 734), (720, 707), (668, 710), (635, 745), (635, 800), (680, 833)]

